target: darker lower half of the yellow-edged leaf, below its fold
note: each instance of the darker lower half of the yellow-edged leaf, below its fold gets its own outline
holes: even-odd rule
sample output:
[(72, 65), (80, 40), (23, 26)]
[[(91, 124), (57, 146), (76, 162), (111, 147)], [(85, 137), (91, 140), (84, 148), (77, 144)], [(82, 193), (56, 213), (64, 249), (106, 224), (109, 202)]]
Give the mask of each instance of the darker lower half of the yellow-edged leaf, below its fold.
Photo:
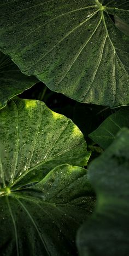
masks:
[(75, 234), (94, 200), (87, 171), (68, 164), (26, 189), (0, 189), (1, 256), (77, 255)]

